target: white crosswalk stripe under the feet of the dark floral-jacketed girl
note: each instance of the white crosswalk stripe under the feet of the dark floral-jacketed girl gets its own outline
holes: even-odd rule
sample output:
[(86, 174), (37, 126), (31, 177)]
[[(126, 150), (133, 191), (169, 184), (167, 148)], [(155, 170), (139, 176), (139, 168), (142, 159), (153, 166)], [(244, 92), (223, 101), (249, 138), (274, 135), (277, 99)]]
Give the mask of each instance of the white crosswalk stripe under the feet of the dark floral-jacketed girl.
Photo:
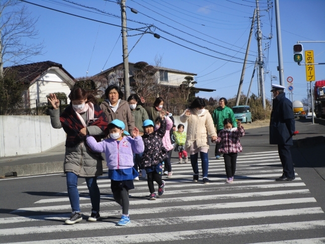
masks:
[[(191, 184), (189, 184), (191, 185)], [(193, 184), (192, 184), (193, 185)], [(178, 187), (183, 187), (182, 185), (177, 185)], [(229, 191), (229, 190), (244, 190), (244, 189), (262, 189), (262, 188), (277, 188), (277, 187), (297, 187), (297, 186), (306, 186), (305, 183), (282, 183), (282, 184), (268, 184), (268, 185), (251, 185), (251, 186), (232, 186), (232, 187), (210, 187), (210, 188), (199, 188), (199, 189), (190, 189), (190, 190), (178, 190), (178, 191), (166, 191), (164, 195), (174, 195), (174, 194), (192, 194), (192, 193), (201, 193), (201, 192), (210, 192), (210, 191)], [(166, 183), (166, 189), (176, 188), (175, 185), (168, 186)], [(137, 190), (148, 190), (148, 187), (143, 187), (142, 189), (137, 188)], [(148, 195), (147, 192), (143, 193), (129, 193), (130, 197), (141, 197)], [(101, 195), (101, 199), (112, 198), (113, 195)], [(80, 201), (90, 200), (90, 197), (79, 197)], [(57, 203), (57, 202), (69, 202), (69, 198), (50, 198), (42, 199), (35, 203)]]

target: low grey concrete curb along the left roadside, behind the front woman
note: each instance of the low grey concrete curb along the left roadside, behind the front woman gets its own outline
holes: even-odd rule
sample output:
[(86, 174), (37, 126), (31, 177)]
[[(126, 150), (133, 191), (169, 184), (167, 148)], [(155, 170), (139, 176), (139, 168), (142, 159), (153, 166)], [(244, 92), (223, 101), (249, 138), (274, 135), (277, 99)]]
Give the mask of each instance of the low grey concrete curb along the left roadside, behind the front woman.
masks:
[[(103, 169), (106, 168), (106, 161), (103, 161)], [(0, 178), (53, 173), (63, 173), (62, 161), (0, 166)]]

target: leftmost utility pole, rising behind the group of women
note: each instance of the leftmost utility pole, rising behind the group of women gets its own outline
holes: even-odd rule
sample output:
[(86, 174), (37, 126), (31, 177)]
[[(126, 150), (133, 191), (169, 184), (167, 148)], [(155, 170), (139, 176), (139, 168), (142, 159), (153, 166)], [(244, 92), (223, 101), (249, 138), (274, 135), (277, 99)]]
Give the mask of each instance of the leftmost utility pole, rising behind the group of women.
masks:
[(125, 86), (125, 100), (130, 96), (130, 81), (128, 77), (128, 51), (127, 51), (127, 32), (126, 32), (126, 11), (125, 0), (121, 0), (121, 17), (122, 17), (122, 49), (123, 49), (123, 75)]

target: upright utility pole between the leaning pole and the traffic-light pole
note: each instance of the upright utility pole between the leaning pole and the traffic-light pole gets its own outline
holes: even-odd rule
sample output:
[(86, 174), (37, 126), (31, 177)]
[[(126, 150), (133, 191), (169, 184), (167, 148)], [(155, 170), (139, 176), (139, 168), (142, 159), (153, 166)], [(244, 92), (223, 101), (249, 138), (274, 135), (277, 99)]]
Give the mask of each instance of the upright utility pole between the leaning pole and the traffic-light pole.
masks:
[(265, 87), (264, 87), (264, 62), (263, 62), (263, 51), (262, 51), (262, 31), (259, 20), (259, 6), (258, 0), (256, 0), (256, 9), (257, 9), (257, 44), (258, 44), (258, 65), (259, 65), (259, 77), (260, 77), (260, 86), (261, 86), (261, 97), (263, 109), (266, 109), (265, 102)]

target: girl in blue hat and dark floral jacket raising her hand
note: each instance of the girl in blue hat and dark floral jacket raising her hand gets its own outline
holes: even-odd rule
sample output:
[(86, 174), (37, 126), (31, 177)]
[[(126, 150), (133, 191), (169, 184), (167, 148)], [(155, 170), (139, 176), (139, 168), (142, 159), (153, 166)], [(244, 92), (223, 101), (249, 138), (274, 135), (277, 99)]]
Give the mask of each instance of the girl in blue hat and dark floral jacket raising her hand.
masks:
[(163, 137), (166, 133), (165, 112), (159, 115), (160, 127), (154, 130), (151, 120), (145, 120), (142, 124), (144, 134), (142, 135), (144, 152), (141, 157), (141, 165), (147, 173), (148, 187), (150, 191), (150, 200), (156, 200), (155, 187), (153, 181), (158, 184), (158, 195), (161, 196), (165, 191), (165, 181), (161, 180), (162, 161), (166, 160), (167, 150), (163, 144)]

